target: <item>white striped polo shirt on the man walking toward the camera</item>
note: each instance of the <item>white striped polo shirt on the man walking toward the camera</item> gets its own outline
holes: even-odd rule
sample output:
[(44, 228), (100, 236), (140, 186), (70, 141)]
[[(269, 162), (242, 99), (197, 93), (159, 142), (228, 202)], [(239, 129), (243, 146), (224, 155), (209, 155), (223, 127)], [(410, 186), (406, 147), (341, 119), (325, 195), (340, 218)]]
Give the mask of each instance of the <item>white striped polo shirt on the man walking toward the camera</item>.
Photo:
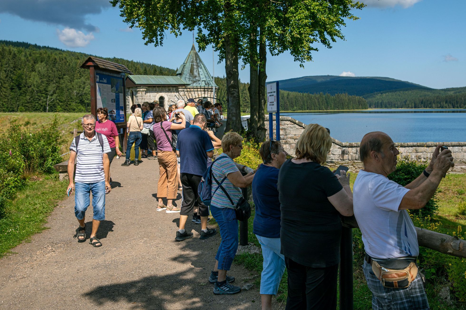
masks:
[(79, 135), (78, 150), (76, 151), (75, 139), (71, 142), (70, 151), (77, 153), (76, 155), (76, 176), (75, 182), (80, 183), (95, 183), (105, 181), (103, 173), (103, 153), (110, 152), (110, 145), (105, 135), (103, 139), (103, 152), (97, 134), (88, 140), (84, 133)]

